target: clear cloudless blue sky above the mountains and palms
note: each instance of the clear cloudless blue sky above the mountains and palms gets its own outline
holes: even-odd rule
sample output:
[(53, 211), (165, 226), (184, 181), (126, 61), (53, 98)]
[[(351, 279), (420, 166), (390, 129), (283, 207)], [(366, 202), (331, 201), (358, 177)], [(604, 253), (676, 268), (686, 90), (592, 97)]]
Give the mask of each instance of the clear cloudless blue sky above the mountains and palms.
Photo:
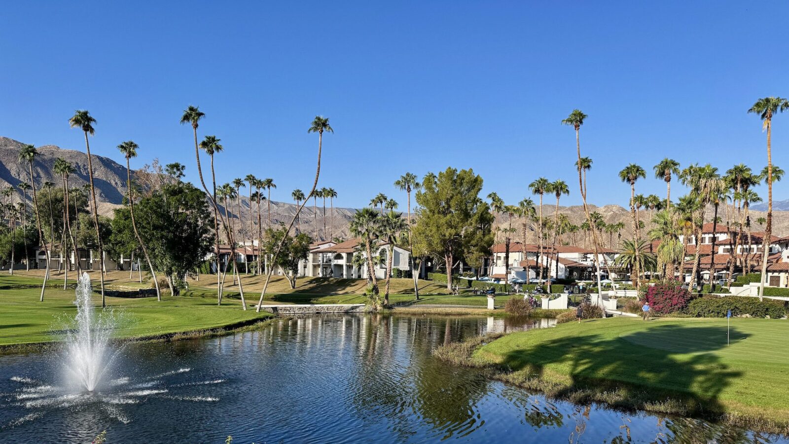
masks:
[[(626, 204), (616, 173), (665, 156), (726, 170), (766, 164), (746, 110), (789, 96), (787, 2), (9, 2), (0, 27), (0, 135), (84, 149), (76, 109), (98, 120), (95, 154), (140, 145), (142, 166), (182, 162), (196, 180), (200, 137), (226, 151), (219, 180), (273, 177), (290, 201), (314, 176), (313, 116), (331, 118), (320, 185), (360, 207), (392, 182), (473, 167), (507, 203), (539, 176), (574, 181), (574, 108), (589, 118), (589, 200)], [(789, 170), (789, 114), (775, 120), (773, 162)], [(775, 187), (786, 199), (789, 179)], [(672, 190), (674, 191), (674, 190)], [(672, 196), (684, 190), (677, 186)], [(758, 190), (766, 199), (766, 190)]]

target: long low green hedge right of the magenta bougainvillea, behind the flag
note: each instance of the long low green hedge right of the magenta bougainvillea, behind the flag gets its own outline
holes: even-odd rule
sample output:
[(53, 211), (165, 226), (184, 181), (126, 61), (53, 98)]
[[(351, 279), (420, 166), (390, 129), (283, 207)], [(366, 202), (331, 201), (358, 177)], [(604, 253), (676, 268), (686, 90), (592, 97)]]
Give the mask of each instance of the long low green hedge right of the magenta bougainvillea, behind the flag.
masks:
[(760, 301), (755, 297), (705, 296), (691, 300), (686, 312), (701, 318), (725, 318), (729, 310), (732, 316), (751, 315), (754, 318), (770, 316), (780, 319), (786, 315), (786, 304), (780, 300)]

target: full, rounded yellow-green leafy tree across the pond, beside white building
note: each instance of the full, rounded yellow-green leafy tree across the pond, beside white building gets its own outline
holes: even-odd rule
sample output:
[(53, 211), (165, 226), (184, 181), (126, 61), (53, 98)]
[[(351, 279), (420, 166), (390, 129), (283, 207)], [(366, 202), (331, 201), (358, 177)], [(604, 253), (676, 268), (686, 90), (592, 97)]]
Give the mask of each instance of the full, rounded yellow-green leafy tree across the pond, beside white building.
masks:
[(415, 235), (428, 252), (443, 259), (449, 290), (456, 261), (493, 243), (492, 217), (481, 191), (482, 177), (473, 170), (447, 168), (438, 176), (424, 177), (422, 190), (417, 192), (421, 213)]

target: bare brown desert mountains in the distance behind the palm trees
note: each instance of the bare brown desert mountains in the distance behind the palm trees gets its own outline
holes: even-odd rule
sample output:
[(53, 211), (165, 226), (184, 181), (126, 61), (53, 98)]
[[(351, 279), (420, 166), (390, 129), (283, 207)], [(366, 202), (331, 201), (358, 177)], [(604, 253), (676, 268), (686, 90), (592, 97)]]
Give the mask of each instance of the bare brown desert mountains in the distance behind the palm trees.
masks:
[[(0, 136), (0, 188), (5, 188), (8, 185), (16, 187), (20, 182), (29, 182), (28, 165), (19, 162), (19, 151), (24, 147), (20, 141), (9, 139), (8, 137)], [(36, 157), (34, 164), (34, 174), (36, 176), (36, 185), (40, 186), (44, 181), (54, 182), (56, 185), (61, 184), (61, 178), (53, 171), (54, 159), (61, 157), (74, 165), (75, 172), (69, 178), (69, 185), (82, 186), (88, 183), (88, 155), (84, 151), (63, 149), (55, 145), (43, 145), (37, 147), (36, 150), (39, 155)], [(118, 207), (123, 202), (123, 196), (126, 189), (126, 167), (113, 159), (103, 157), (100, 155), (93, 155), (93, 177), (96, 186), (96, 199), (99, 200), (99, 213), (107, 216), (112, 216), (112, 210)], [(249, 191), (249, 190), (247, 190)], [(239, 237), (249, 239), (249, 220), (257, 221), (256, 207), (250, 207), (248, 194), (245, 195), (241, 191), (241, 211), (237, 215), (237, 204), (234, 203), (228, 209), (231, 215), (234, 215), (237, 229), (241, 226), (241, 235)], [(312, 237), (318, 238), (316, 233), (321, 233), (323, 238), (323, 224), (325, 222), (327, 235), (331, 237), (332, 233), (335, 237), (350, 237), (349, 224), (351, 218), (356, 213), (357, 209), (348, 207), (335, 207), (334, 212), (334, 229), (332, 230), (332, 212), (331, 208), (326, 207), (326, 216), (323, 217), (323, 206), (321, 200), (318, 201), (318, 206), (313, 208), (309, 202), (304, 210), (301, 212), (301, 229), (306, 233), (310, 233)], [(271, 223), (279, 224), (290, 223), (291, 218), (296, 214), (296, 205), (294, 203), (271, 201)], [(751, 221), (753, 223), (753, 231), (764, 229), (757, 224), (757, 219), (765, 216), (767, 206), (765, 203), (753, 205), (751, 207)], [(774, 218), (773, 218), (773, 233), (778, 236), (786, 236), (789, 234), (789, 200), (780, 200), (773, 202)], [(401, 208), (404, 210), (404, 208)], [(543, 216), (552, 217), (555, 207), (550, 204), (543, 206)], [(261, 221), (264, 226), (267, 226), (268, 221), (268, 206), (267, 202), (260, 205)], [(596, 207), (589, 204), (589, 211), (597, 211), (603, 216), (603, 219), (608, 223), (625, 222), (626, 229), (623, 236), (629, 236), (630, 233), (630, 211), (619, 205), (604, 205)], [(559, 207), (559, 212), (566, 214), (570, 218), (570, 222), (580, 225), (585, 220), (583, 207), (580, 205), (570, 207)], [(723, 211), (720, 211), (720, 217), (724, 218)], [(641, 210), (641, 220), (645, 220), (649, 216), (649, 210)], [(707, 219), (712, 216), (712, 209), (707, 212)], [(239, 220), (241, 223), (239, 224)], [(499, 225), (506, 224), (503, 218), (499, 218)], [(317, 227), (316, 227), (317, 226)], [(521, 224), (513, 219), (513, 227), (518, 227), (518, 233), (514, 238), (520, 239)], [(317, 228), (317, 232), (316, 232)], [(257, 228), (253, 226), (252, 234), (257, 235)], [(527, 241), (534, 241), (534, 233), (530, 233), (530, 239)]]

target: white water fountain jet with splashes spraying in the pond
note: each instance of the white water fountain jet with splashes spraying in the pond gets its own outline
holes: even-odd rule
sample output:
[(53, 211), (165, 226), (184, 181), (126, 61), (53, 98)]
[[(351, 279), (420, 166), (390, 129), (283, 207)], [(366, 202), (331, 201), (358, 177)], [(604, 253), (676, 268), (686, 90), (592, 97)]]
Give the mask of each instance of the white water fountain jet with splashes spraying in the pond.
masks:
[[(105, 418), (129, 423), (131, 419), (121, 406), (139, 404), (148, 398), (219, 401), (218, 397), (183, 392), (219, 384), (225, 379), (174, 380), (182, 379), (191, 368), (177, 368), (147, 376), (134, 375), (133, 366), (116, 363), (116, 358), (123, 350), (123, 347), (111, 341), (116, 318), (111, 310), (97, 312), (94, 308), (91, 281), (87, 273), (79, 278), (74, 303), (77, 305), (77, 315), (73, 324), (65, 330), (62, 352), (53, 363), (54, 373), (61, 377), (58, 381), (47, 382), (40, 379), (39, 375), (13, 376), (11, 382), (20, 388), (0, 394), (0, 409), (18, 409), (21, 416), (0, 425), (0, 431), (57, 414), (58, 411), (80, 412), (88, 409), (100, 412)], [(131, 375), (127, 375), (129, 371)]]

